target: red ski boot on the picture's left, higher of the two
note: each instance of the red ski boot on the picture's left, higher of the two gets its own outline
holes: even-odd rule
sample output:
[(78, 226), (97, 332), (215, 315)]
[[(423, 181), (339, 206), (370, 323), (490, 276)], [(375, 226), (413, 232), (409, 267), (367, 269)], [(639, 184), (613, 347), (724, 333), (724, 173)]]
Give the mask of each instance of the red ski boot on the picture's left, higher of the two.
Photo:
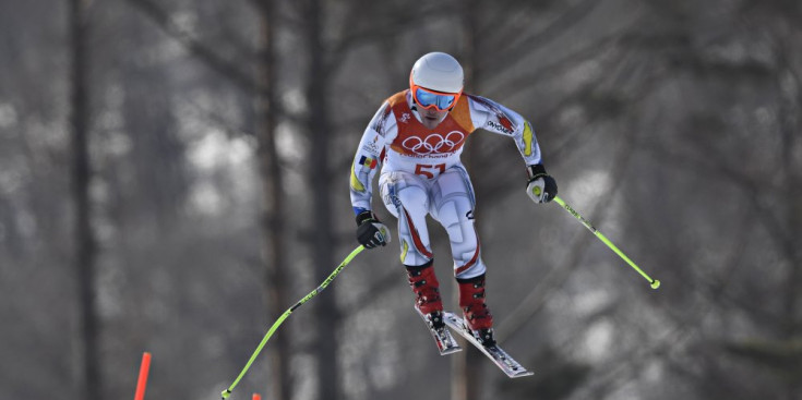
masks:
[(445, 328), (443, 322), (443, 302), (440, 299), (440, 283), (432, 267), (433, 260), (421, 266), (405, 266), (409, 278), (409, 287), (416, 294), (415, 307), (424, 316), (432, 329)]

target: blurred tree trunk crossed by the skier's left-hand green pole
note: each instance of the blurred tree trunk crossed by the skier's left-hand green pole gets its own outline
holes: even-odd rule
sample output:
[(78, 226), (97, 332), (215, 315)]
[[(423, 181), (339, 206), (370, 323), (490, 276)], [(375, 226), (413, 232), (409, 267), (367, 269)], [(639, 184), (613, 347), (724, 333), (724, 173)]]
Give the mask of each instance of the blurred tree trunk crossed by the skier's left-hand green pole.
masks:
[[(284, 179), (276, 150), (276, 63), (274, 44), (276, 37), (276, 2), (265, 0), (260, 7), (261, 41), (259, 63), (259, 89), (256, 92), (256, 140), (259, 166), (264, 195), (262, 229), (264, 234), (264, 292), (268, 319), (278, 319), (286, 308), (287, 262), (284, 238), (285, 207)], [(268, 349), (271, 375), (268, 379), (272, 399), (291, 399), (289, 373), (290, 349), (288, 327), (276, 331), (275, 346)]]

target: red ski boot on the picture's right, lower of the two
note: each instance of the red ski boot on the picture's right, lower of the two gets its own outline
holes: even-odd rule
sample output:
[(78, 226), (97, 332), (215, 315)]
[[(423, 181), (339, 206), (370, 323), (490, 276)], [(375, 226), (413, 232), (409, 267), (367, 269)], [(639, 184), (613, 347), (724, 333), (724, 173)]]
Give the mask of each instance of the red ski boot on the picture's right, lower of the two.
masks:
[(459, 307), (465, 315), (464, 324), (476, 340), (484, 347), (495, 346), (493, 316), (484, 304), (484, 274), (469, 279), (457, 278)]

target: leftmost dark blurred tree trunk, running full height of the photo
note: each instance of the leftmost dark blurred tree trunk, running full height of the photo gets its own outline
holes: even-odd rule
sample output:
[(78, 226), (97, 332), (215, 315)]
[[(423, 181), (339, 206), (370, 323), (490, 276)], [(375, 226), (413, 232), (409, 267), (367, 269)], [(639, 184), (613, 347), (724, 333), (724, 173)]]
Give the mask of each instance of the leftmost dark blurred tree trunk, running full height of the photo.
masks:
[(80, 360), (80, 381), (77, 398), (100, 399), (100, 367), (98, 356), (98, 316), (96, 311), (95, 288), (95, 246), (92, 230), (92, 209), (89, 204), (89, 183), (92, 168), (89, 160), (89, 88), (87, 71), (87, 0), (70, 2), (70, 29), (72, 45), (71, 105), (70, 124), (72, 129), (72, 197), (75, 206), (75, 254), (74, 268), (79, 295), (80, 332), (77, 339)]

